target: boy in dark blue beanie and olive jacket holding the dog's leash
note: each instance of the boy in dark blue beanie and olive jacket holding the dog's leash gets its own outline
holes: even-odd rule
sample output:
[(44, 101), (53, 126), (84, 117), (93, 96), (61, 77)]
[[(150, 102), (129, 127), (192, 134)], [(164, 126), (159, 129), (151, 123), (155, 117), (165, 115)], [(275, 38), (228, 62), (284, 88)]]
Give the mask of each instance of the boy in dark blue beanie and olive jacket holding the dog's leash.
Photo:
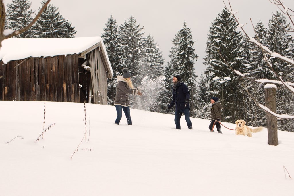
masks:
[(220, 130), (220, 110), (221, 110), (221, 105), (220, 102), (218, 102), (218, 97), (211, 97), (211, 123), (209, 125), (209, 130), (210, 132), (214, 132), (213, 131), (213, 124), (216, 125), (216, 129), (218, 131), (218, 133), (222, 133)]

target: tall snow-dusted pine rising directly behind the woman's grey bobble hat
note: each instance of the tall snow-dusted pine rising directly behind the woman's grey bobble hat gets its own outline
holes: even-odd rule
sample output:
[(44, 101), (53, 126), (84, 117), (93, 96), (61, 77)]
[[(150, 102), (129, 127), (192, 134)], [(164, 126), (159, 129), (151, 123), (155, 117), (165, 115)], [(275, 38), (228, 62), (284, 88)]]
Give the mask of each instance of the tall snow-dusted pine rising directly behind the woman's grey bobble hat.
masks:
[(119, 27), (118, 39), (120, 43), (119, 50), (121, 52), (120, 67), (128, 68), (132, 74), (133, 84), (136, 86), (140, 83), (138, 77), (139, 64), (141, 62), (143, 51), (143, 33), (141, 32), (143, 27), (139, 27), (140, 24), (136, 24), (136, 19), (131, 16)]

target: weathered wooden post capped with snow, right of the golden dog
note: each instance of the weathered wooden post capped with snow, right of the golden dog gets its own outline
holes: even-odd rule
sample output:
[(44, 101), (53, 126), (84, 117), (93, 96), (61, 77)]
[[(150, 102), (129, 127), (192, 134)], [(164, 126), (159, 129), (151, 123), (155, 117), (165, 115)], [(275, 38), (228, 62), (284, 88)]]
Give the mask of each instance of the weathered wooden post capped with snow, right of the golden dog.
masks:
[[(276, 112), (275, 94), (276, 86), (273, 84), (267, 84), (264, 87), (265, 90), (265, 106), (272, 112)], [(277, 117), (273, 114), (266, 112), (266, 121), (268, 124), (268, 144), (272, 146), (278, 145), (278, 127)]]

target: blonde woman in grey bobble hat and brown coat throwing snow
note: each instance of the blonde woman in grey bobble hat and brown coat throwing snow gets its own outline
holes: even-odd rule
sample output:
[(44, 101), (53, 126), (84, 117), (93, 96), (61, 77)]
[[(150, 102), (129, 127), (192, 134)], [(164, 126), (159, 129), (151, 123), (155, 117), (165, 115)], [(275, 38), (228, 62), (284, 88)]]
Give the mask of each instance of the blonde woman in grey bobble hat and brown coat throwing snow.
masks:
[(114, 105), (117, 112), (115, 124), (119, 124), (121, 121), (121, 109), (126, 114), (128, 125), (132, 124), (128, 94), (143, 95), (140, 92), (140, 87), (134, 89), (130, 72), (128, 72), (127, 68), (123, 68), (123, 76), (117, 76), (116, 95), (114, 98)]

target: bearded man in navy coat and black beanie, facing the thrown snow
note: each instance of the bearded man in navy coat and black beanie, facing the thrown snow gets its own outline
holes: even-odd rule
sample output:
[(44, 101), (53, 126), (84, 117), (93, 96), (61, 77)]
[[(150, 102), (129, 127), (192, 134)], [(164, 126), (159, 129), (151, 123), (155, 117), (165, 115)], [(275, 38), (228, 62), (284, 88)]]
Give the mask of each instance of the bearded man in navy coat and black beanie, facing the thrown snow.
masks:
[(189, 89), (186, 84), (184, 84), (181, 81), (181, 77), (179, 75), (176, 75), (173, 77), (173, 100), (167, 107), (168, 110), (173, 107), (174, 104), (176, 104), (176, 112), (175, 112), (175, 123), (176, 123), (176, 129), (181, 129), (180, 125), (180, 119), (182, 114), (184, 113), (185, 119), (187, 121), (187, 125), (189, 129), (192, 129), (192, 122), (190, 120), (190, 105), (189, 105), (189, 99), (190, 99), (190, 93)]

